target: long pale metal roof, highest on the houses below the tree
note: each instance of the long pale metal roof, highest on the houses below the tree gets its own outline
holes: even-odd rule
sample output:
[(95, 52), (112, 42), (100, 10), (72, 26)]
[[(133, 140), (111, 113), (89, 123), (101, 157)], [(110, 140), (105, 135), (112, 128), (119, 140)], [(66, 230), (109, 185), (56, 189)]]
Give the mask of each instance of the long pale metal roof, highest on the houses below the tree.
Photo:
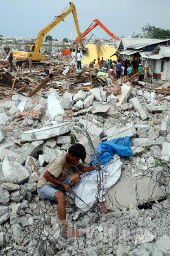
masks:
[(170, 39), (151, 39), (151, 38), (122, 38), (124, 49), (141, 49), (152, 44), (160, 44), (169, 41)]

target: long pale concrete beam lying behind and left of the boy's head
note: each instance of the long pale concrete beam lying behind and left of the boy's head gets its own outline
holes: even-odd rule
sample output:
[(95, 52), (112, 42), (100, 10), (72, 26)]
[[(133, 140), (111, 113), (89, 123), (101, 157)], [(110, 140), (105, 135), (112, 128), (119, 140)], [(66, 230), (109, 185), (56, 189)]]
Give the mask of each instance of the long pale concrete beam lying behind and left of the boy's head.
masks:
[(21, 139), (23, 141), (47, 140), (68, 133), (73, 126), (74, 122), (62, 122), (57, 125), (48, 125), (46, 127), (23, 132)]

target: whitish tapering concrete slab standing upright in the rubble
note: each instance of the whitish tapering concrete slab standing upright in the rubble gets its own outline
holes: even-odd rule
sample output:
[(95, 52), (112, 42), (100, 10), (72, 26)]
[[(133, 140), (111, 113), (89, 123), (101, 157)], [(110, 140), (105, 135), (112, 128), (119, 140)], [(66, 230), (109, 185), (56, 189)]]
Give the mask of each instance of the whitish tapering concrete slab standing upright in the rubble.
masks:
[(64, 112), (58, 100), (58, 96), (56, 96), (54, 92), (50, 93), (47, 100), (46, 116), (48, 116), (49, 119), (54, 119), (55, 116), (62, 115)]

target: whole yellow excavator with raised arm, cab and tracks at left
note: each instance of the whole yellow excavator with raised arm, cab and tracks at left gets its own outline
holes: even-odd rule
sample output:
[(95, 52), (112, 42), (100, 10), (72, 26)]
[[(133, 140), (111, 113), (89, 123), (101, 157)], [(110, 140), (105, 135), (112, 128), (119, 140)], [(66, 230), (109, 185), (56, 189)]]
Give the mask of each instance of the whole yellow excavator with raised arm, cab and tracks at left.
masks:
[(47, 26), (45, 26), (43, 29), (40, 30), (40, 32), (37, 35), (37, 40), (35, 44), (27, 44), (25, 49), (18, 49), (13, 51), (13, 58), (15, 58), (16, 65), (20, 67), (28, 67), (28, 57), (31, 54), (32, 55), (32, 64), (37, 65), (41, 64), (40, 61), (46, 61), (46, 57), (42, 54), (42, 40), (44, 36), (54, 28), (60, 21), (62, 21), (69, 13), (72, 12), (74, 23), (77, 29), (77, 35), (79, 37), (80, 46), (82, 49), (82, 52), (85, 54), (86, 50), (84, 49), (83, 43), (82, 43), (82, 37), (79, 30), (79, 23), (77, 19), (77, 12), (74, 4), (72, 2), (69, 2), (70, 7), (67, 9), (65, 7), (62, 12), (54, 18), (54, 20), (49, 23)]

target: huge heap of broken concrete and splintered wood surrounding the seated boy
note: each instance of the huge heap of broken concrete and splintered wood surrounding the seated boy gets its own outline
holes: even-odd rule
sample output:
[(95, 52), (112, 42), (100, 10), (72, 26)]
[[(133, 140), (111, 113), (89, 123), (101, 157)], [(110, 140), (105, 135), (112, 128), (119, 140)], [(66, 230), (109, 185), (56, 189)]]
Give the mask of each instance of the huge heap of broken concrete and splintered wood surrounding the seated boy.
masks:
[[(54, 81), (32, 97), (26, 97), (30, 90), (16, 90), (21, 83), (34, 88), (37, 75), (19, 75), (13, 93), (6, 89), (8, 97), (0, 101), (0, 254), (170, 255), (170, 102), (129, 81), (99, 77), (95, 69), (61, 74), (64, 70), (53, 70)], [(31, 159), (41, 173), (71, 146), (77, 123), (95, 148), (129, 136), (133, 156), (121, 157), (121, 177), (106, 195), (107, 214), (95, 208), (83, 214), (67, 198), (68, 224), (85, 236), (64, 239), (57, 204), (37, 195)], [(85, 136), (76, 136), (88, 165), (93, 152)]]

